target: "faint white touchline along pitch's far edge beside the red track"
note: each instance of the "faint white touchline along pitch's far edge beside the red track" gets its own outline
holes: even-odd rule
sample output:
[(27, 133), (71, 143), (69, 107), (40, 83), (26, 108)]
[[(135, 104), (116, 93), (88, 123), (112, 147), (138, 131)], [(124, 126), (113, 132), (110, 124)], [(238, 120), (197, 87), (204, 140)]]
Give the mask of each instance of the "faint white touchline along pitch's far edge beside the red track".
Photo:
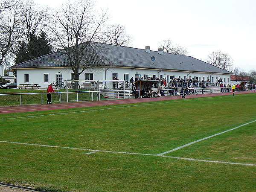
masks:
[[(128, 106), (122, 106), (122, 107), (94, 109), (94, 110), (87, 110), (87, 111), (72, 111), (72, 112), (50, 113), (50, 114), (34, 115), (34, 116), (20, 116), (20, 117), (3, 118), (3, 119), (0, 119), (0, 120), (22, 119), (22, 118), (30, 118), (30, 117), (38, 117), (38, 116), (49, 116), (49, 115), (62, 115), (62, 114), (69, 114), (69, 113), (84, 113), (84, 112), (102, 111), (102, 110), (108, 110), (108, 109), (129, 108), (129, 107), (136, 107), (136, 106), (143, 106), (143, 105), (157, 105), (157, 104), (166, 104), (166, 103), (175, 103), (175, 102), (182, 102), (182, 101), (202, 100), (202, 99), (212, 99), (212, 97), (204, 97), (204, 98), (199, 98), (199, 99), (198, 98), (195, 98), (195, 99), (179, 99), (179, 100), (170, 101), (170, 102), (161, 102), (161, 103), (157, 102), (157, 103), (148, 103), (148, 104), (139, 104), (139, 105), (128, 105)], [(128, 103), (124, 103), (124, 104), (128, 104)], [(120, 104), (120, 105), (122, 105), (122, 104)], [(104, 105), (102, 105), (102, 106), (104, 106)], [(95, 107), (98, 107), (98, 106), (95, 106)]]

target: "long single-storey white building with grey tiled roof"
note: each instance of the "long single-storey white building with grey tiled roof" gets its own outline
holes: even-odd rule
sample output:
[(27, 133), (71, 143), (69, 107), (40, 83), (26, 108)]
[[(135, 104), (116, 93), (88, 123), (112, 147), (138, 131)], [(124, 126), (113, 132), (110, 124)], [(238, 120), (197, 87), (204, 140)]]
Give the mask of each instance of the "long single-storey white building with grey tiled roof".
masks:
[[(230, 82), (232, 75), (191, 56), (164, 53), (162, 49), (151, 51), (150, 47), (137, 49), (91, 42), (86, 52), (90, 55), (89, 65), (97, 63), (104, 64), (104, 67), (84, 70), (80, 80), (112, 80), (116, 76), (119, 80), (130, 81), (131, 77), (140, 79), (150, 76), (165, 77), (167, 82), (173, 78)], [(13, 69), (17, 69), (17, 84), (38, 83), (45, 88), (51, 81), (73, 79), (64, 50), (17, 64)]]

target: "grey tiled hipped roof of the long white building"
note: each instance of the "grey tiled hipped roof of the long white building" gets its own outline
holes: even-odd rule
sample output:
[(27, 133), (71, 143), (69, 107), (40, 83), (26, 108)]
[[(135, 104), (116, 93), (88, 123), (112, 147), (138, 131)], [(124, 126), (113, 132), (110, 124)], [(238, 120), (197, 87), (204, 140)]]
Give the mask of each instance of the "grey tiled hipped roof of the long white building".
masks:
[[(232, 74), (226, 70), (215, 67), (190, 56), (175, 55), (170, 53), (163, 53), (163, 55), (160, 55), (157, 51), (150, 51), (150, 53), (148, 53), (145, 52), (144, 49), (95, 42), (91, 42), (90, 45), (91, 47), (89, 46), (86, 49), (86, 52), (88, 54), (90, 53), (90, 64), (95, 62), (103, 62), (104, 64), (118, 67)], [(154, 62), (151, 61), (152, 56), (155, 57)], [(66, 67), (68, 66), (67, 62), (67, 55), (65, 55), (64, 51), (61, 50), (17, 64), (14, 68)]]

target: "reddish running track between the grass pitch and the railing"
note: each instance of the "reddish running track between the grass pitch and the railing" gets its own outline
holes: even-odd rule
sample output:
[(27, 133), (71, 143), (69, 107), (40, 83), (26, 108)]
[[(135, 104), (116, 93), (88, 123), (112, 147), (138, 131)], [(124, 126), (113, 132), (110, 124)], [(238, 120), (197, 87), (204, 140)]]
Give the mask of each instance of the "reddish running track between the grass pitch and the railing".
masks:
[[(236, 94), (243, 93), (256, 93), (256, 91), (239, 91)], [(207, 93), (207, 94), (197, 94), (197, 95), (186, 95), (186, 98), (200, 98), (209, 96), (222, 96), (230, 95), (232, 93)], [(71, 103), (54, 103), (54, 104), (43, 104), (43, 105), (21, 105), (21, 106), (10, 106), (10, 107), (0, 107), (0, 113), (18, 113), (18, 112), (29, 112), (29, 111), (46, 111), (54, 109), (68, 109), (68, 108), (82, 108), (82, 107), (92, 107), (92, 106), (102, 106), (102, 105), (118, 105), (118, 104), (128, 104), (128, 103), (142, 103), (142, 102), (152, 102), (152, 101), (165, 101), (183, 99), (180, 96), (166, 96), (166, 97), (151, 97), (151, 98), (139, 98), (139, 99), (113, 99), (113, 100), (101, 100), (101, 101), (88, 101), (88, 102), (71, 102)]]

